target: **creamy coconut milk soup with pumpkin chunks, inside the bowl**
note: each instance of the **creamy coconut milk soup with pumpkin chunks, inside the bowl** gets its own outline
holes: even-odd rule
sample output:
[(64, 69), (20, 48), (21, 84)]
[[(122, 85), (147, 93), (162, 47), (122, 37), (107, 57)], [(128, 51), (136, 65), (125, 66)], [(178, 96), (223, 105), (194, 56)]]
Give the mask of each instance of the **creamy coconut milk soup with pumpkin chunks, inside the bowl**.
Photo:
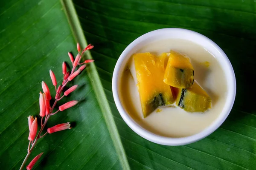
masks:
[[(143, 55), (152, 60), (143, 61), (140, 58)], [(173, 57), (172, 60), (169, 57)], [(179, 68), (177, 63), (185, 69)], [(154, 66), (149, 68), (151, 64)], [(143, 71), (143, 75), (139, 71)], [(166, 71), (170, 74), (164, 73)], [(163, 75), (167, 85), (162, 82)], [(155, 78), (152, 81), (143, 76)], [(176, 86), (176, 80), (180, 83), (178, 88), (169, 86)], [(147, 82), (143, 82), (143, 86), (141, 81)], [(146, 130), (166, 137), (185, 137), (201, 132), (218, 117), (227, 98), (226, 79), (218, 60), (207, 49), (187, 40), (161, 40), (145, 45), (131, 56), (120, 82), (121, 102), (130, 116)], [(157, 94), (157, 90), (164, 92)]]

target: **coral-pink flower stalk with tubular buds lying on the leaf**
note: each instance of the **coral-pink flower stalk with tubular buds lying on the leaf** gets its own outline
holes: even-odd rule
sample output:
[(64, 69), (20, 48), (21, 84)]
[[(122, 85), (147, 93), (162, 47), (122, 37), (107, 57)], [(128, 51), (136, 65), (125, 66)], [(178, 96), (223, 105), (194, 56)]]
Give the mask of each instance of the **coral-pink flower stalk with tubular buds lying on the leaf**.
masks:
[[(84, 53), (84, 51), (90, 50), (91, 48), (93, 48), (93, 45), (87, 45), (87, 47), (82, 50), (81, 55)], [(94, 61), (94, 60), (90, 60), (90, 61), (85, 60), (84, 62), (79, 63), (81, 60), (81, 55), (80, 55), (81, 47), (80, 47), (79, 43), (77, 43), (77, 50), (78, 50), (79, 54), (77, 54), (75, 61), (74, 61), (73, 55), (70, 52), (68, 53), (70, 61), (72, 62), (72, 65), (73, 65), (73, 68), (71, 71), (67, 71), (67, 65), (65, 62), (62, 63), (63, 82), (62, 82), (62, 85), (58, 86), (58, 89), (56, 88), (57, 80), (56, 80), (55, 74), (53, 73), (52, 70), (49, 71), (50, 77), (52, 80), (52, 85), (55, 86), (55, 91), (56, 91), (55, 101), (52, 106), (50, 106), (50, 100), (52, 99), (52, 97), (51, 97), (49, 88), (48, 88), (47, 84), (44, 81), (42, 81), (42, 89), (43, 89), (44, 93), (41, 93), (41, 92), (39, 93), (39, 106), (40, 106), (39, 115), (41, 116), (41, 128), (40, 128), (39, 132), (37, 133), (37, 130), (38, 130), (37, 117), (35, 117), (35, 118), (33, 116), (28, 117), (28, 124), (29, 124), (29, 137), (28, 137), (29, 145), (28, 145), (28, 150), (27, 150), (28, 152), (27, 152), (25, 159), (23, 160), (23, 163), (20, 166), (20, 170), (22, 170), (23, 167), (25, 166), (27, 159), (29, 158), (32, 150), (35, 148), (35, 145), (38, 142), (38, 139), (43, 138), (45, 135), (47, 135), (47, 133), (55, 133), (55, 132), (58, 132), (61, 130), (71, 129), (70, 123), (67, 122), (67, 123), (62, 123), (62, 124), (50, 127), (47, 129), (47, 132), (44, 133), (44, 135), (41, 135), (42, 131), (44, 130), (44, 127), (46, 126), (46, 124), (51, 116), (55, 115), (59, 111), (64, 111), (67, 108), (73, 107), (74, 105), (76, 105), (78, 103), (78, 101), (76, 101), (76, 100), (67, 102), (67, 103), (59, 106), (58, 111), (53, 112), (57, 102), (62, 97), (67, 96), (71, 92), (75, 91), (76, 88), (78, 87), (78, 85), (72, 86), (71, 88), (69, 88), (67, 91), (64, 92), (64, 95), (62, 97), (60, 97), (61, 93), (62, 93), (64, 87), (67, 85), (67, 83), (70, 82), (71, 80), (73, 80), (86, 67), (86, 65), (82, 65), (80, 68), (78, 68), (76, 70), (77, 65)], [(43, 121), (43, 118), (44, 118), (44, 121)], [(36, 156), (26, 166), (26, 169), (31, 170), (32, 167), (35, 165), (35, 163), (38, 161), (38, 159), (40, 159), (42, 154), (43, 153), (40, 153), (38, 156)]]

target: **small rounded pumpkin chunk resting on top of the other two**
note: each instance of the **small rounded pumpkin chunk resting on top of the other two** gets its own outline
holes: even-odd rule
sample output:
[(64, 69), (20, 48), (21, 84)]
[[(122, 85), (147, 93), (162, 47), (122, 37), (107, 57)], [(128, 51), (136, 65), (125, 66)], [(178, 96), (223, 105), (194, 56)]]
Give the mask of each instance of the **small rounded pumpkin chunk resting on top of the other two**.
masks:
[(163, 81), (175, 88), (188, 88), (194, 82), (194, 68), (189, 57), (171, 51)]

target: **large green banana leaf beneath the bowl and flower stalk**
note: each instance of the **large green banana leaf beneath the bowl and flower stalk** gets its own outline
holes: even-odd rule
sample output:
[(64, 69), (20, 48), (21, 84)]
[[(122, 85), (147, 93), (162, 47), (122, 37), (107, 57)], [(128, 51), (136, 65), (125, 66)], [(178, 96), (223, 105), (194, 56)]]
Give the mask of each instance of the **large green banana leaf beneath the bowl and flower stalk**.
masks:
[[(154, 144), (134, 133), (113, 102), (111, 79), (125, 47), (148, 31), (187, 28), (206, 35), (233, 65), (237, 93), (227, 120), (210, 136), (184, 146)], [(19, 169), (27, 153), (27, 116), (39, 116), (49, 69), (61, 83), (61, 63), (76, 42), (95, 59), (68, 86), (79, 100), (47, 127), (73, 127), (41, 139), (35, 169), (253, 170), (256, 169), (256, 1), (254, 0), (1, 0), (0, 169)], [(39, 117), (38, 117), (39, 118)]]

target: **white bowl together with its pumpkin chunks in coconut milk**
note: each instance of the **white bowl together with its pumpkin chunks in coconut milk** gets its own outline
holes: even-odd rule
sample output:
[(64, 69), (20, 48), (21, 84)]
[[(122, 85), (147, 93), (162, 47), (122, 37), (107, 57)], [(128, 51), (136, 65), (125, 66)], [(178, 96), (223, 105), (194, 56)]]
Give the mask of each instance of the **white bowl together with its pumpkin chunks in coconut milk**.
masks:
[(113, 73), (116, 107), (151, 142), (183, 145), (215, 131), (230, 113), (236, 79), (226, 54), (209, 38), (164, 28), (137, 38)]

